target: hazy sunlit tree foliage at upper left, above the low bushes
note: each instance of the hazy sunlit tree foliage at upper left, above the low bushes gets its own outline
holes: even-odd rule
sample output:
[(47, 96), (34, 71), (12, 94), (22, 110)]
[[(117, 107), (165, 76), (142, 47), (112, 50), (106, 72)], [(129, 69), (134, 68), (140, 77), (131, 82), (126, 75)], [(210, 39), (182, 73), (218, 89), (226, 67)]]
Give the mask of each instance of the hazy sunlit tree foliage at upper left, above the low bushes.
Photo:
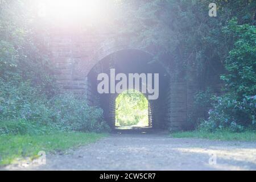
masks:
[(53, 96), (56, 92), (53, 65), (49, 61), (44, 37), (36, 32), (36, 19), (29, 0), (1, 1), (0, 78), (1, 81), (31, 82), (38, 91)]

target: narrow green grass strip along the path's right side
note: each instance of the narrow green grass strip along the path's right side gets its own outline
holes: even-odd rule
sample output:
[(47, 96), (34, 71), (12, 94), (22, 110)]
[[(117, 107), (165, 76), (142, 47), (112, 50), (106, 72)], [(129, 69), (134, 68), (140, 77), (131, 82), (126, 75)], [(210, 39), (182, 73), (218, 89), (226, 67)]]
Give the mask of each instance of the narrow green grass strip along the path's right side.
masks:
[(235, 140), (235, 141), (256, 141), (256, 131), (244, 131), (242, 133), (232, 133), (230, 131), (216, 131), (209, 133), (206, 131), (185, 131), (172, 133), (174, 138), (205, 138), (210, 140)]

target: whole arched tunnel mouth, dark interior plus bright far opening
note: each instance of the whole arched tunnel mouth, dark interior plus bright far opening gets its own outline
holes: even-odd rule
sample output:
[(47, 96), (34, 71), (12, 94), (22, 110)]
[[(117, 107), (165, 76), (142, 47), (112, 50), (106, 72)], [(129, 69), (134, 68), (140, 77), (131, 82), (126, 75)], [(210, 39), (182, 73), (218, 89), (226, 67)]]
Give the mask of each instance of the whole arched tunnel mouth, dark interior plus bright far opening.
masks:
[[(92, 105), (100, 106), (104, 110), (104, 119), (108, 122), (112, 130), (115, 129), (142, 129), (146, 130), (166, 130), (169, 125), (169, 115), (168, 109), (170, 108), (167, 101), (170, 100), (170, 73), (167, 72), (166, 68), (159, 62), (152, 60), (152, 55), (139, 51), (137, 49), (125, 49), (122, 51), (113, 52), (110, 55), (104, 57), (98, 61), (96, 65), (90, 70), (86, 77), (88, 82), (87, 95), (88, 100)], [(133, 110), (130, 115), (120, 114), (119, 107), (123, 106), (123, 101), (125, 94), (119, 93), (99, 93), (98, 84), (102, 81), (98, 81), (97, 77), (101, 73), (112, 77), (111, 71), (115, 70), (115, 75), (119, 73), (123, 75), (129, 74), (158, 74), (159, 75), (159, 97), (156, 100), (150, 99), (150, 94), (148, 92), (143, 92), (143, 88), (135, 88), (138, 90), (141, 99), (143, 98), (146, 104), (146, 109), (143, 111), (144, 115), (147, 117), (142, 117), (139, 115), (138, 110)], [(117, 84), (118, 81), (115, 81)], [(111, 85), (111, 84), (110, 84)], [(111, 86), (109, 85), (109, 90)], [(127, 79), (127, 85), (129, 85), (129, 80)], [(152, 85), (154, 87), (155, 85)], [(150, 89), (147, 87), (146, 89)], [(131, 88), (126, 88), (130, 90)], [(143, 96), (143, 97), (142, 97)], [(127, 96), (128, 97), (128, 96)], [(122, 98), (122, 99), (121, 99)], [(126, 99), (126, 98), (125, 98)], [(134, 98), (135, 99), (135, 98)], [(132, 99), (131, 99), (132, 100)], [(134, 103), (133, 103), (134, 104)], [(129, 105), (123, 107), (123, 110), (128, 112)], [(122, 112), (121, 112), (122, 113)], [(127, 114), (127, 113), (126, 113)], [(125, 118), (126, 117), (126, 118)]]

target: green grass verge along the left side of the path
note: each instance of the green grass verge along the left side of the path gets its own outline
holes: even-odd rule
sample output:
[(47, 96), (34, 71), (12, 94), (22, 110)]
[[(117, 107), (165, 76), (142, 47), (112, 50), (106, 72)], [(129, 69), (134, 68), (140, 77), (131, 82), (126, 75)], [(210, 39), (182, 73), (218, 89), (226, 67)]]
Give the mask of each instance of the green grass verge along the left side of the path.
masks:
[(34, 158), (39, 151), (67, 150), (96, 142), (107, 134), (59, 132), (45, 135), (2, 135), (0, 136), (0, 166), (11, 164), (17, 158)]

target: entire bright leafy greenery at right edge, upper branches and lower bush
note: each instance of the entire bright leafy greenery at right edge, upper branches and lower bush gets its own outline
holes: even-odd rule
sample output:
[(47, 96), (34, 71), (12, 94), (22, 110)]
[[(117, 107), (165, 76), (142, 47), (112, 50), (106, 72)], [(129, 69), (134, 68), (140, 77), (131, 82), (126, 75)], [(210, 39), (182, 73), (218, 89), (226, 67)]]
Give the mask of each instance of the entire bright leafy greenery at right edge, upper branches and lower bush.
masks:
[(213, 98), (213, 109), (209, 111), (207, 121), (201, 123), (200, 129), (255, 129), (256, 28), (248, 24), (239, 26), (236, 19), (232, 19), (224, 28), (224, 33), (235, 42), (224, 63), (228, 72), (221, 76), (226, 94)]

